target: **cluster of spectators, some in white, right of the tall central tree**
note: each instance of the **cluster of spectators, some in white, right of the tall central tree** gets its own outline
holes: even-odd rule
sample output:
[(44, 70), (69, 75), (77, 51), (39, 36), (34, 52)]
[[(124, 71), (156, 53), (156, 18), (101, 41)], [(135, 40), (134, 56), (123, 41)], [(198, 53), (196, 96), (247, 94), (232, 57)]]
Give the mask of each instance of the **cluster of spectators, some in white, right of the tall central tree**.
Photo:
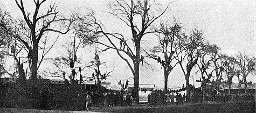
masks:
[(162, 90), (155, 90), (152, 93), (148, 95), (148, 103), (149, 105), (172, 105), (175, 104), (176, 100), (176, 105), (183, 105), (183, 103), (186, 100), (185, 94), (183, 96), (179, 93), (174, 95), (174, 93), (170, 93), (169, 91), (165, 92)]

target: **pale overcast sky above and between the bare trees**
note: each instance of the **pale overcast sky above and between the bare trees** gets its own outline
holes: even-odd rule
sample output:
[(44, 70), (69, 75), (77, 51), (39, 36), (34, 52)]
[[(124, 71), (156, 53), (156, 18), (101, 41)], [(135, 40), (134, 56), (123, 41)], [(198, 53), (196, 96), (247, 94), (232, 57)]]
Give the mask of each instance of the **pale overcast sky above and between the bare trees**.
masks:
[[(53, 3), (55, 1), (52, 1)], [(171, 2), (168, 11), (160, 20), (168, 20), (173, 22), (174, 17), (183, 24), (184, 31), (189, 32), (197, 27), (204, 31), (204, 37), (211, 44), (216, 44), (222, 50), (222, 53), (228, 55), (236, 55), (239, 51), (246, 54), (255, 55), (255, 1), (227, 1), (227, 0), (212, 0), (212, 1), (159, 1), (163, 6)], [(2, 5), (6, 10), (11, 12), (14, 17), (20, 16), (20, 11), (15, 5), (14, 0), (1, 0)], [(106, 14), (106, 1), (93, 0), (59, 0), (56, 1), (60, 13), (69, 15), (74, 9), (78, 12), (85, 13), (88, 9), (93, 9), (96, 16), (105, 25), (108, 31), (115, 31), (121, 33), (130, 33), (129, 29), (124, 29), (124, 24), (118, 22), (117, 19), (112, 18)], [(24, 2), (26, 9), (29, 11), (33, 8), (32, 1)], [(47, 5), (43, 5), (48, 8)], [(45, 10), (45, 9), (43, 9)], [(130, 35), (130, 34), (128, 34)], [(61, 50), (61, 44), (64, 40), (58, 40), (59, 43), (54, 47), (50, 55), (56, 54)], [(60, 45), (58, 45), (60, 44)], [(111, 54), (110, 54), (111, 53)], [(113, 51), (104, 53), (101, 57), (106, 60), (110, 67), (115, 67), (113, 75), (108, 81), (117, 84), (116, 80), (124, 80), (133, 77), (128, 66)], [(59, 52), (58, 54), (61, 54)], [(163, 87), (163, 71), (157, 63), (150, 59), (155, 70), (151, 70), (146, 66), (141, 66), (140, 83), (153, 83), (157, 86)], [(121, 65), (120, 65), (121, 64)], [(43, 66), (44, 67), (44, 66)], [(200, 77), (199, 73), (191, 73), (190, 83), (192, 83), (192, 75), (195, 75), (194, 81)], [(254, 79), (253, 79), (254, 78)], [(255, 77), (250, 77), (248, 81), (255, 82)], [(237, 82), (237, 80), (234, 80)], [(181, 73), (181, 68), (176, 66), (174, 71), (169, 75), (169, 87), (182, 86), (185, 84), (184, 75)]]

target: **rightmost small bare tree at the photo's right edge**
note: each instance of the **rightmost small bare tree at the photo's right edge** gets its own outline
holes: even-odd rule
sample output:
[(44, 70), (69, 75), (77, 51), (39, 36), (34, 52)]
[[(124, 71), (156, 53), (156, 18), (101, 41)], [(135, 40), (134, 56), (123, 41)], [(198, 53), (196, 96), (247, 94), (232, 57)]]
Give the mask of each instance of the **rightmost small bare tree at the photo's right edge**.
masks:
[(247, 94), (247, 79), (246, 77), (255, 72), (255, 57), (248, 57), (248, 55), (239, 52), (237, 55), (238, 65), (240, 68), (240, 75), (243, 77), (241, 80), (242, 83), (245, 84), (245, 94)]

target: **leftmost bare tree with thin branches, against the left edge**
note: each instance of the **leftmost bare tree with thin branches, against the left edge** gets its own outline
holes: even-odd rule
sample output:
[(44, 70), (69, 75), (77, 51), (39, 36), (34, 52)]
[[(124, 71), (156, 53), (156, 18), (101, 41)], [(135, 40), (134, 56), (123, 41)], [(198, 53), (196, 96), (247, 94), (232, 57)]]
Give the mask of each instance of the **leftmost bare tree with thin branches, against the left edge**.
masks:
[[(4, 11), (3, 9), (0, 9), (0, 18), (1, 18), (1, 23), (0, 23), (0, 34), (1, 34), (1, 43), (0, 43), (0, 47), (1, 47), (1, 70), (3, 70), (2, 72), (4, 73), (8, 73), (11, 77), (17, 77), (16, 75), (18, 74), (18, 70), (23, 70), (20, 69), (20, 55), (19, 53), (22, 52), (22, 50), (24, 49), (24, 46), (22, 44), (20, 44), (19, 42), (17, 42), (17, 40), (15, 40), (13, 38), (12, 35), (9, 34), (9, 32), (6, 32), (5, 28), (9, 28), (9, 29), (13, 29), (15, 31), (17, 31), (17, 33), (22, 32), (19, 31), (19, 26), (13, 26), (13, 23), (16, 23), (16, 21), (14, 21), (12, 19), (12, 17), (9, 15), (10, 12)], [(11, 73), (10, 69), (5, 69), (5, 68), (12, 68), (11, 65), (7, 65), (4, 59), (7, 59), (9, 57), (13, 57), (16, 66), (16, 73)], [(8, 63), (10, 64), (10, 63)]]

